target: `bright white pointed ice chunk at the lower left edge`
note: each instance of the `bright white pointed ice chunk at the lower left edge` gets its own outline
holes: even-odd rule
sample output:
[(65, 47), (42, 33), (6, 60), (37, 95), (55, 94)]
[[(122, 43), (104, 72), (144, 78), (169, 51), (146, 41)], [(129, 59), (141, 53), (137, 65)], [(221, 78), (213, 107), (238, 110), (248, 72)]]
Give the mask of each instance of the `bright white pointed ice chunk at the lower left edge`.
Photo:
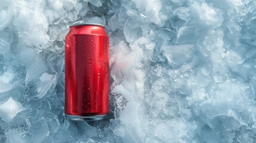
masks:
[(0, 117), (5, 122), (10, 122), (23, 110), (25, 110), (23, 105), (10, 97), (6, 102), (4, 102), (4, 104), (0, 106)]

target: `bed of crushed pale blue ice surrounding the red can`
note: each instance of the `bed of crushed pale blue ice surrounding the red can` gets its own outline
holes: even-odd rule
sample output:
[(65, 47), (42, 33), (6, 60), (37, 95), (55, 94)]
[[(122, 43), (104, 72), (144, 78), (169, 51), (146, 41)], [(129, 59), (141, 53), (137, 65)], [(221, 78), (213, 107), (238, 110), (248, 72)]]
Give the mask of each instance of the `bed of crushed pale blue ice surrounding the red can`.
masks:
[[(110, 113), (64, 114), (64, 36), (110, 37)], [(1, 0), (0, 142), (256, 142), (256, 1)]]

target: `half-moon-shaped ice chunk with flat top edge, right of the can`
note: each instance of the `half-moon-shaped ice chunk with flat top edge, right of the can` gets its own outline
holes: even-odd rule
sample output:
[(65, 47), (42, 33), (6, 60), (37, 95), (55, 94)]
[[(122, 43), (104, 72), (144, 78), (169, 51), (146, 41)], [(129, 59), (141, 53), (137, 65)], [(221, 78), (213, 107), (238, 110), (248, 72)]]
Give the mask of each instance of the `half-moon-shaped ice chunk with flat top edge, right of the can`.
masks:
[(195, 45), (168, 45), (162, 46), (162, 50), (164, 51), (164, 55), (169, 62), (176, 65), (181, 65), (189, 60), (195, 51)]

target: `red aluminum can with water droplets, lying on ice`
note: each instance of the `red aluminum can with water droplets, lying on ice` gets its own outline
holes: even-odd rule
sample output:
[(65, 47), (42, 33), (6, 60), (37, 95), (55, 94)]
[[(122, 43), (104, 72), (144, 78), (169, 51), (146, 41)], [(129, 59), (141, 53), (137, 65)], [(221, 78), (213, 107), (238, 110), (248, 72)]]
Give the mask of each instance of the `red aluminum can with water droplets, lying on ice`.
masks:
[(73, 24), (65, 43), (65, 113), (100, 120), (109, 112), (109, 37), (101, 24)]

